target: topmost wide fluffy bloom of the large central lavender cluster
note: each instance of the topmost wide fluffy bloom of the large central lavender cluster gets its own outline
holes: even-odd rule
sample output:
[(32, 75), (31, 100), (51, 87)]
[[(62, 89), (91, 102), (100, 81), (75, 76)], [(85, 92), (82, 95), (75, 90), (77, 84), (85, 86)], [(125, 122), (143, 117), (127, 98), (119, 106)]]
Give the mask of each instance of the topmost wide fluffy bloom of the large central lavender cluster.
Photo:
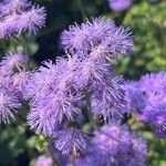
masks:
[(62, 46), (80, 59), (115, 59), (117, 53), (131, 54), (133, 40), (128, 29), (117, 28), (112, 20), (97, 18), (75, 24), (61, 35)]

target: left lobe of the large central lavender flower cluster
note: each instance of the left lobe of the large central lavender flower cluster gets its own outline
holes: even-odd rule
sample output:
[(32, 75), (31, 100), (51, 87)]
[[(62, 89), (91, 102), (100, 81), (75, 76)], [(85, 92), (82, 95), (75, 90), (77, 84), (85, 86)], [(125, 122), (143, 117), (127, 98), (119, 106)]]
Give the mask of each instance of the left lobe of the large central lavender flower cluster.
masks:
[(30, 77), (24, 97), (32, 98), (28, 116), (30, 127), (38, 134), (52, 135), (63, 121), (72, 121), (81, 113), (75, 102), (82, 96), (72, 80), (76, 65), (72, 59), (44, 65)]

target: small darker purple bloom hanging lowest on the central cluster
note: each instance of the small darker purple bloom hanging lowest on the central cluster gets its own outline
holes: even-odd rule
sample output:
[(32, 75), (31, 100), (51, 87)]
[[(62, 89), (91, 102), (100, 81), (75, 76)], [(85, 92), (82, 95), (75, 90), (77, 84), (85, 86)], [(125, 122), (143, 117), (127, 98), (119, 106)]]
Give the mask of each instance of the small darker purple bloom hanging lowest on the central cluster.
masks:
[(55, 147), (65, 155), (77, 156), (85, 153), (91, 142), (80, 129), (66, 128), (58, 133)]

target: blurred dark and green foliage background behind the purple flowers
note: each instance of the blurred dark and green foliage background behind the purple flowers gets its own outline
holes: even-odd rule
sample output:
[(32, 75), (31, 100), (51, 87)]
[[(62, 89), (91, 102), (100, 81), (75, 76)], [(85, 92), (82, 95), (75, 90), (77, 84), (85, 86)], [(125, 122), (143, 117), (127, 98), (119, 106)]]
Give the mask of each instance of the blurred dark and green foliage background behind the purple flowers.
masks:
[[(117, 71), (128, 80), (137, 80), (148, 72), (166, 71), (166, 0), (134, 0), (131, 8), (114, 12), (107, 0), (35, 0), (46, 8), (46, 25), (28, 41), (31, 68), (44, 60), (63, 55), (60, 35), (74, 22), (85, 18), (104, 15), (117, 25), (129, 27), (134, 37), (134, 53), (131, 58), (120, 55)], [(22, 49), (17, 41), (0, 41), (0, 55), (7, 50)], [(166, 139), (157, 139), (151, 129), (132, 118), (131, 127), (141, 129), (148, 144), (148, 166), (166, 166)], [(0, 166), (28, 166), (42, 155), (49, 154), (43, 136), (37, 136), (28, 126), (19, 124), (0, 126)]]

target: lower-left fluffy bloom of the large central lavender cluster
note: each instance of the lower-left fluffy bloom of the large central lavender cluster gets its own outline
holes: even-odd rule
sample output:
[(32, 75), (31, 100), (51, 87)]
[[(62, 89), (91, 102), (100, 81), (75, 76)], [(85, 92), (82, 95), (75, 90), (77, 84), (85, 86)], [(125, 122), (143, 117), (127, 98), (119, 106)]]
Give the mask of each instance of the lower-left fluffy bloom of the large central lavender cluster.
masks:
[(73, 120), (73, 115), (80, 113), (63, 93), (34, 98), (30, 106), (28, 124), (37, 134), (53, 135), (63, 120)]

